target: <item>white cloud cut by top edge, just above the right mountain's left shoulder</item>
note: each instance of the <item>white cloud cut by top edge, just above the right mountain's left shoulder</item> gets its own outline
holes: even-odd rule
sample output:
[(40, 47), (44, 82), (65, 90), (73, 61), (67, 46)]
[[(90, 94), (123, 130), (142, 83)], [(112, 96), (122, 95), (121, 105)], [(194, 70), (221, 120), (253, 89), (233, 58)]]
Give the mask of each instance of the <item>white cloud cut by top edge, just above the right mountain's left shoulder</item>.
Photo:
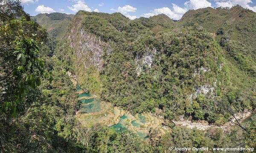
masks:
[(198, 9), (198, 8), (206, 8), (212, 7), (212, 3), (207, 0), (189, 0), (184, 3), (187, 9)]

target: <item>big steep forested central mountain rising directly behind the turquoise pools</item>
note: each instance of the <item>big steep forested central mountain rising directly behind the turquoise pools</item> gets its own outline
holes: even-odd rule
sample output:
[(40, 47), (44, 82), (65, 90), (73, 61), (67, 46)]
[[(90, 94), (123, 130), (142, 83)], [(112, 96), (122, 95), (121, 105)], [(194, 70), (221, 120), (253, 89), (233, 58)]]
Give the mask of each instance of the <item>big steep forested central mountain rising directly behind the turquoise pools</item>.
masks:
[[(197, 11), (205, 10), (215, 11)], [(234, 112), (255, 108), (256, 64), (247, 46), (208, 32), (217, 27), (185, 24), (190, 16), (197, 20), (193, 14), (175, 23), (163, 14), (129, 20), (79, 11), (56, 55), (74, 66), (82, 88), (106, 102), (134, 113), (222, 124), (227, 120), (218, 114), (227, 112), (221, 105)]]

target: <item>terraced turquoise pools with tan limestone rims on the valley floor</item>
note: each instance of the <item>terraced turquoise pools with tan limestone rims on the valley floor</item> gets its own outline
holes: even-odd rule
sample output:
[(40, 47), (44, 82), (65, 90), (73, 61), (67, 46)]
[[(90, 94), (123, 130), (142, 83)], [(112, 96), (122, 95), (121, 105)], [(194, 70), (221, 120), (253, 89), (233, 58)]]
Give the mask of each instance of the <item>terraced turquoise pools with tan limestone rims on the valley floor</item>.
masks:
[(96, 96), (83, 92), (78, 83), (76, 91), (82, 103), (82, 108), (76, 114), (81, 123), (100, 123), (113, 128), (116, 132), (129, 129), (137, 133), (140, 139), (146, 138), (150, 128), (157, 130), (158, 135), (170, 130), (163, 118), (152, 116), (150, 113), (131, 114), (119, 107), (113, 107), (111, 103), (102, 102)]

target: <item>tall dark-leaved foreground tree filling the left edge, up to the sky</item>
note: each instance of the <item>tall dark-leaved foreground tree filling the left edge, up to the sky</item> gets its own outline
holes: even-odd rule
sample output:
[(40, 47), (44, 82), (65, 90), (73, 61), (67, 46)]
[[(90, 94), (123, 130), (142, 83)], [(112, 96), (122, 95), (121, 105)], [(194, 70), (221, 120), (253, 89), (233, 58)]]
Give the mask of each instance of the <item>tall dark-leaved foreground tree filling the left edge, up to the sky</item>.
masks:
[(44, 71), (44, 60), (38, 57), (39, 41), (47, 34), (26, 15), (19, 1), (4, 0), (0, 5), (0, 112), (16, 116), (37, 97), (35, 88), (42, 78), (51, 82)]

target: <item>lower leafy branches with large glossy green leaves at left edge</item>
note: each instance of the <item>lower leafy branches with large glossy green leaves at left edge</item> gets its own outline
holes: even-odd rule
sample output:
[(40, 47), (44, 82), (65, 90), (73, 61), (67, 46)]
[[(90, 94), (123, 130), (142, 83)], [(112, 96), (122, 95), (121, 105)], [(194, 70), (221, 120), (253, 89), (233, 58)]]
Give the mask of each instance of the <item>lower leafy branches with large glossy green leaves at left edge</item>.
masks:
[(20, 39), (11, 43), (12, 47), (1, 48), (0, 58), (3, 74), (0, 76), (1, 112), (16, 116), (34, 101), (36, 87), (41, 78), (52, 81), (51, 72), (44, 71), (44, 60), (38, 57), (38, 42)]

